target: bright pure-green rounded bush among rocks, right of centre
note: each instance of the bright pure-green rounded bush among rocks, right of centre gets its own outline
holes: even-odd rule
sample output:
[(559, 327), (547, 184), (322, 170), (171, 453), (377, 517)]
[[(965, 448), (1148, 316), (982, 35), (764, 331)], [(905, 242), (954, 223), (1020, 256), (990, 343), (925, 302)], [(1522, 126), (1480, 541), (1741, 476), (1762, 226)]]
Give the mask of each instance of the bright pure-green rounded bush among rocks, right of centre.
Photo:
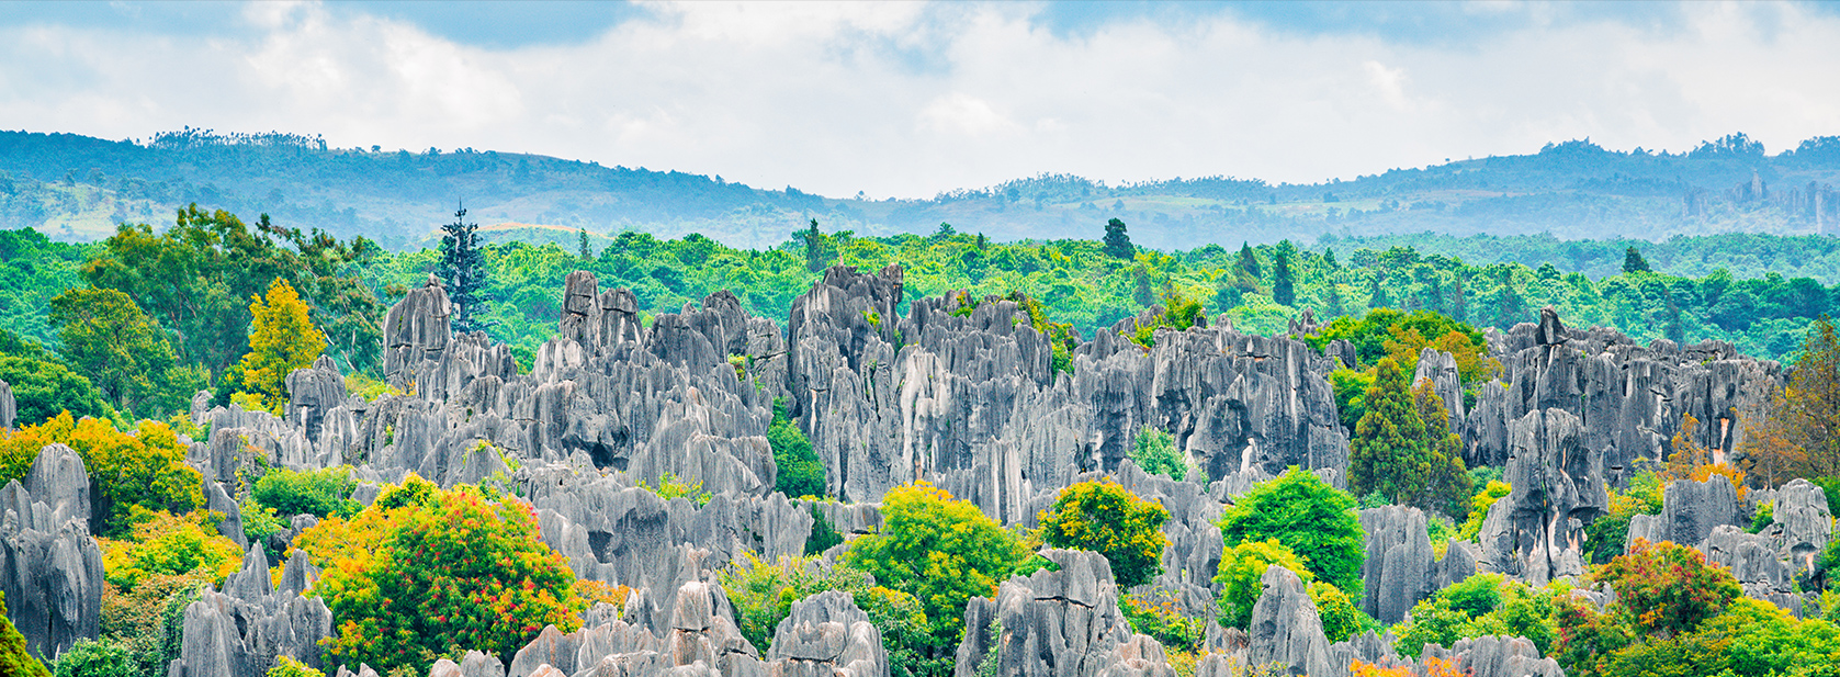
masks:
[(1354, 497), (1323, 484), (1316, 473), (1292, 467), (1255, 486), (1220, 517), (1229, 545), (1277, 539), (1308, 563), (1323, 581), (1360, 594), (1367, 535), (1354, 515)]

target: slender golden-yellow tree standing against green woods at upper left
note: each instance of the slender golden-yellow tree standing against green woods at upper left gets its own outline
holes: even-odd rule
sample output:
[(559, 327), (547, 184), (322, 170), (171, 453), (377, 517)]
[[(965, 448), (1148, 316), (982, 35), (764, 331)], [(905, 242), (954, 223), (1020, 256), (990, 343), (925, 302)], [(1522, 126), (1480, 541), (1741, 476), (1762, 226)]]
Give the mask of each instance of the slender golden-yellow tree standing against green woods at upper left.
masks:
[(245, 407), (280, 414), (287, 405), (287, 373), (313, 366), (326, 350), (326, 335), (307, 316), (307, 304), (287, 280), (269, 285), (269, 298), (248, 304), (248, 355), (236, 364)]

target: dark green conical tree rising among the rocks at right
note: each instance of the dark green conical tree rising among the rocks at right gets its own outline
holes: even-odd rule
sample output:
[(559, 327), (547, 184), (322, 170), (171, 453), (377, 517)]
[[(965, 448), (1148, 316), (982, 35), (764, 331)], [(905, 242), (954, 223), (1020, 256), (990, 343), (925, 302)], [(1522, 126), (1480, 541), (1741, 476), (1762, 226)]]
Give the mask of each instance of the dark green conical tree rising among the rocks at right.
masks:
[(1408, 390), (1398, 362), (1382, 357), (1367, 388), (1367, 412), (1349, 440), (1349, 489), (1389, 502), (1459, 515), (1470, 495), (1463, 440), (1448, 432), (1430, 381)]

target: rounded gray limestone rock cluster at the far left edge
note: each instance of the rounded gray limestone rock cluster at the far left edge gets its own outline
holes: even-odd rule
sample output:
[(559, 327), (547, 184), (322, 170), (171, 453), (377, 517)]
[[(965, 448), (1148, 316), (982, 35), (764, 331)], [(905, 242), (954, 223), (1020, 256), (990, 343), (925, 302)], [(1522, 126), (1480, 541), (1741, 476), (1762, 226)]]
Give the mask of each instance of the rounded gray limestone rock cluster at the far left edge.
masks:
[(103, 554), (90, 539), (90, 475), (66, 445), (0, 489), (0, 592), (26, 649), (50, 662), (101, 627)]

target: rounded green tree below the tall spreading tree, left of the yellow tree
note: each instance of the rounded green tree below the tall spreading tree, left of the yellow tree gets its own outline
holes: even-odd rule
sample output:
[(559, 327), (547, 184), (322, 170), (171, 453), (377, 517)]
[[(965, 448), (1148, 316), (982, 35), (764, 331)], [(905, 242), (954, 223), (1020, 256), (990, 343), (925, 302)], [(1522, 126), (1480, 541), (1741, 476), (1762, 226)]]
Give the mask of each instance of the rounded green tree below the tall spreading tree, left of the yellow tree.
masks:
[(166, 333), (120, 291), (66, 291), (52, 300), (50, 320), (59, 327), (66, 364), (123, 412), (182, 412), (204, 386), (204, 375), (178, 366)]

